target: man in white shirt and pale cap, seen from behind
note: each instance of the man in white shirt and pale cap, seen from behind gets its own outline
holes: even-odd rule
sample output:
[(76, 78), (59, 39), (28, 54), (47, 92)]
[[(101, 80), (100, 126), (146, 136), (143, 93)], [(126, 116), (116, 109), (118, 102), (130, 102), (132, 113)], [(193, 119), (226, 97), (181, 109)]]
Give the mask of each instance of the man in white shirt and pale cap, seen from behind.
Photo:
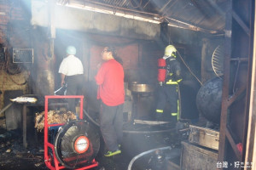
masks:
[[(61, 73), (61, 86), (67, 82), (67, 94), (77, 95), (83, 86), (84, 67), (79, 58), (75, 56), (76, 48), (68, 46), (67, 57), (62, 60), (59, 73)], [(68, 109), (75, 113), (75, 99), (68, 99)]]

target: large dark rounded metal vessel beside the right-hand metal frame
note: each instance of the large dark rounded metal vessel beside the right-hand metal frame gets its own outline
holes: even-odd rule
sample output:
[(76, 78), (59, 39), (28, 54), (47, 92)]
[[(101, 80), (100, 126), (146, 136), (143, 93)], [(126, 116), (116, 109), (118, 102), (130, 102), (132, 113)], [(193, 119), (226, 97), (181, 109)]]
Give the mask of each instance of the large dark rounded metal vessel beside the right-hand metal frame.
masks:
[(196, 106), (208, 121), (219, 124), (223, 80), (214, 77), (205, 82), (196, 95)]

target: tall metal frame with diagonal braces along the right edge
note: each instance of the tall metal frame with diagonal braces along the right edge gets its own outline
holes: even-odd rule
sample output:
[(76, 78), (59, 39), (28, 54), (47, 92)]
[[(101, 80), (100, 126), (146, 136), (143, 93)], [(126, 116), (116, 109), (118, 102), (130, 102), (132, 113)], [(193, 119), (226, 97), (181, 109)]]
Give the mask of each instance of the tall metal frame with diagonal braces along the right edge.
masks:
[[(254, 22), (254, 1), (247, 0), (247, 7), (249, 7), (250, 14), (245, 16), (238, 14), (240, 11), (236, 11), (236, 8), (233, 8), (237, 4), (234, 3), (241, 3), (240, 1), (233, 1), (228, 0), (228, 8), (226, 13), (226, 23), (225, 23), (225, 52), (224, 52), (224, 82), (223, 82), (223, 98), (222, 98), (222, 106), (221, 106), (221, 122), (220, 122), (220, 136), (219, 136), (219, 148), (218, 148), (218, 162), (223, 163), (227, 160), (232, 160), (234, 165), (234, 161), (237, 162), (244, 162), (245, 161), (245, 154), (246, 154), (246, 147), (247, 147), (247, 127), (248, 127), (248, 108), (249, 108), (249, 100), (250, 100), (250, 89), (251, 89), (251, 77), (252, 77), (252, 60), (253, 60), (253, 22)], [(249, 20), (249, 22), (248, 22)], [(236, 24), (236, 26), (235, 26)], [(247, 26), (249, 25), (249, 26)], [(240, 27), (240, 31), (237, 31), (237, 26)], [(240, 34), (239, 36), (237, 36)], [(243, 53), (246, 56), (235, 56), (234, 48), (241, 48), (246, 49), (247, 52)], [(233, 69), (231, 65), (232, 62), (237, 62), (237, 67), (243, 62), (247, 62), (247, 82), (241, 81), (239, 87), (236, 90), (233, 88), (233, 92), (230, 92), (230, 88), (236, 85), (236, 73), (232, 72)], [(244, 69), (244, 71), (246, 71)], [(241, 75), (240, 75), (241, 77)], [(238, 76), (238, 79), (240, 78)], [(235, 81), (232, 82), (231, 80), (235, 78)], [(230, 128), (230, 116), (234, 113), (230, 111), (231, 105), (233, 105), (237, 99), (241, 98), (242, 95), (245, 94), (245, 105), (243, 109), (243, 117), (241, 117), (241, 128), (243, 128), (243, 137), (242, 137), (242, 150), (239, 150), (237, 147), (236, 135), (237, 132), (232, 131)], [(235, 156), (234, 156), (235, 154)], [(229, 156), (232, 156), (229, 159)], [(238, 168), (243, 168), (243, 166), (239, 165)], [(223, 169), (220, 167), (219, 169)]]

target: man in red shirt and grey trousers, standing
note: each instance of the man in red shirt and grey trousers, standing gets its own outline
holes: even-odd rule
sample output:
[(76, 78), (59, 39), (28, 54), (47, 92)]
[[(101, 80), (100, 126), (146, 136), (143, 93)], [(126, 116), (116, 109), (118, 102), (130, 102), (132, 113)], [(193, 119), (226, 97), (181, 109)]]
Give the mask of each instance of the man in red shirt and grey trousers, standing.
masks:
[(95, 77), (99, 85), (97, 99), (102, 99), (100, 127), (108, 149), (104, 156), (121, 153), (119, 144), (123, 138), (124, 69), (115, 57), (114, 48), (105, 47), (102, 59), (106, 62), (102, 64)]

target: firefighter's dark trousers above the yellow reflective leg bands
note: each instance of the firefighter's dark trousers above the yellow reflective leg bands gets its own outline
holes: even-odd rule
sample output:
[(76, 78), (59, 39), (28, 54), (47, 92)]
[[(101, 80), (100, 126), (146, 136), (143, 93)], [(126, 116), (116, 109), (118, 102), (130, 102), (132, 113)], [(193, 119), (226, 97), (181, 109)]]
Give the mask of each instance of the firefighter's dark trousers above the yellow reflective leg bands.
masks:
[(170, 105), (171, 113), (177, 113), (177, 85), (166, 84), (158, 89), (157, 110), (164, 110), (166, 103)]

